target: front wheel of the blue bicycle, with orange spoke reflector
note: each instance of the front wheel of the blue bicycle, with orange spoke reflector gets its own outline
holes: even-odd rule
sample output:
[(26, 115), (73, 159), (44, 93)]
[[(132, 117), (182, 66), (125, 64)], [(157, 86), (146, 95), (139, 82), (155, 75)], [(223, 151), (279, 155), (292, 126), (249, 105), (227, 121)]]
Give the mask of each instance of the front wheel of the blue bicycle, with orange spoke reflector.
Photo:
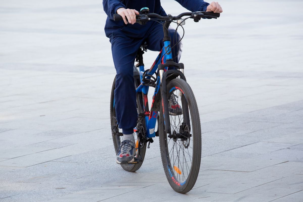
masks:
[[(168, 100), (171, 96), (175, 96), (182, 108), (182, 114), (169, 115), (171, 135), (168, 135), (165, 133), (163, 113), (160, 110), (161, 159), (171, 187), (179, 193), (187, 193), (195, 185), (200, 169), (201, 125), (199, 112), (195, 96), (186, 81), (175, 78), (167, 84), (167, 90)], [(169, 102), (168, 100), (166, 102)]]

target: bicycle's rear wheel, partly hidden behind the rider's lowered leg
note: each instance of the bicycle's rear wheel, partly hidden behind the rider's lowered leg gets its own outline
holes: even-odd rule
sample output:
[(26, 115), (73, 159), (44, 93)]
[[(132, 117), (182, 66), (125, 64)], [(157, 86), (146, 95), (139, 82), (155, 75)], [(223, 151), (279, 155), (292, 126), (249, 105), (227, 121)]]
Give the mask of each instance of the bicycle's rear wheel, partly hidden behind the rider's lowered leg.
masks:
[[(140, 77), (139, 76), (134, 76), (135, 79), (135, 88), (138, 87), (138, 85), (140, 85)], [(117, 121), (116, 121), (116, 111), (115, 111), (115, 105), (114, 105), (114, 91), (115, 91), (115, 83), (116, 83), (116, 78), (114, 79), (113, 85), (112, 85), (112, 93), (111, 93), (111, 102), (110, 102), (110, 120), (111, 120), (111, 125), (117, 125)], [(137, 99), (137, 111), (138, 114), (140, 112), (143, 112), (143, 99), (142, 99), (142, 93), (137, 93), (136, 95), (136, 99)], [(145, 128), (145, 121), (142, 121), (144, 128)], [(117, 130), (119, 130), (118, 125), (117, 125)], [(122, 130), (120, 130), (122, 131)], [(118, 135), (114, 135), (112, 134), (112, 139), (113, 139), (113, 143), (114, 143), (114, 148), (115, 148), (115, 152), (117, 154), (117, 149), (122, 141), (123, 136), (118, 136)], [(129, 171), (129, 172), (135, 172), (137, 171), (144, 160), (144, 156), (145, 156), (145, 151), (146, 151), (146, 144), (144, 145), (140, 145), (139, 144), (139, 137), (135, 136), (135, 143), (136, 143), (136, 158), (139, 158), (139, 156), (141, 156), (142, 161), (135, 163), (135, 164), (121, 164), (121, 167), (125, 170), (125, 171)], [(140, 149), (138, 148), (140, 147)]]

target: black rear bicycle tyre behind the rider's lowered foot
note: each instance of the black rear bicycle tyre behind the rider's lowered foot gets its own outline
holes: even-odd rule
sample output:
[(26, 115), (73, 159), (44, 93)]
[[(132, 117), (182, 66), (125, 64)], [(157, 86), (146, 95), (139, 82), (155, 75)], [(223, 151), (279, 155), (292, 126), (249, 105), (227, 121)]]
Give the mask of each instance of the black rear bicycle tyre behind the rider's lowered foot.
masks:
[[(137, 88), (140, 85), (140, 77), (139, 76), (134, 76), (135, 79), (135, 88)], [(111, 92), (111, 101), (110, 101), (110, 121), (111, 121), (111, 125), (112, 125), (112, 117), (116, 117), (116, 112), (115, 112), (115, 107), (114, 107), (114, 90), (115, 90), (115, 83), (116, 83), (116, 77), (114, 79), (114, 82), (112, 84), (112, 92)], [(142, 93), (137, 93), (136, 95), (136, 99), (137, 99), (137, 110), (139, 112), (142, 112), (143, 110), (143, 99), (142, 99)], [(145, 125), (145, 121), (143, 123)], [(114, 143), (114, 148), (115, 148), (115, 152), (117, 154), (117, 149), (121, 143), (123, 136), (117, 136), (112, 134), (112, 139), (113, 139), (113, 143)], [(140, 145), (139, 145), (140, 146)], [(137, 157), (138, 155), (140, 155), (140, 153), (138, 152), (139, 150), (137, 150)], [(137, 171), (144, 160), (145, 157), (145, 151), (146, 151), (146, 144), (140, 148), (141, 151), (141, 157), (142, 157), (142, 162), (138, 162), (135, 164), (121, 164), (121, 167), (128, 172), (135, 172)]]

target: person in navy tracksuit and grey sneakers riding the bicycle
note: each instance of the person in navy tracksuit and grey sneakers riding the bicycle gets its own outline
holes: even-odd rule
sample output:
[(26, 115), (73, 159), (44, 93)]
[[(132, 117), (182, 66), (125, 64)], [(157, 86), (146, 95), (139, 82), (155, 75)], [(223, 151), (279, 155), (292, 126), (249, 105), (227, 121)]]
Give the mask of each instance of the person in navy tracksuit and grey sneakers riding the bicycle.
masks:
[[(218, 2), (211, 4), (203, 0), (175, 0), (184, 8), (195, 11), (212, 11), (221, 13), (222, 8)], [(150, 12), (165, 16), (160, 0), (103, 0), (103, 8), (107, 14), (105, 35), (112, 44), (112, 57), (116, 69), (115, 84), (115, 111), (119, 128), (122, 128), (123, 139), (118, 148), (116, 162), (132, 163), (135, 156), (135, 139), (133, 128), (137, 124), (136, 91), (133, 78), (134, 60), (138, 49), (143, 42), (147, 42), (147, 49), (160, 51), (163, 47), (163, 26), (151, 21), (146, 25), (135, 24), (136, 16), (143, 7), (148, 7)], [(114, 14), (122, 16), (123, 21), (114, 21)], [(128, 22), (127, 22), (127, 20)], [(180, 35), (170, 28), (171, 47), (179, 40)], [(172, 48), (173, 61), (177, 62), (181, 56), (181, 43)], [(171, 115), (182, 114), (182, 109), (174, 96), (169, 102)]]

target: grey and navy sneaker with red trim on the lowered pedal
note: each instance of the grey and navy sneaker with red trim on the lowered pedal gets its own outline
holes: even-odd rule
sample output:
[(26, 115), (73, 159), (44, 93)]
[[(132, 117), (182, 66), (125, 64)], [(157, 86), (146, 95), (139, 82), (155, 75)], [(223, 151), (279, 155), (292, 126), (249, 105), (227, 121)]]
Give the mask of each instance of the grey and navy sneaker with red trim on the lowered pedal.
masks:
[(128, 164), (135, 161), (135, 141), (123, 140), (118, 148), (117, 164)]

